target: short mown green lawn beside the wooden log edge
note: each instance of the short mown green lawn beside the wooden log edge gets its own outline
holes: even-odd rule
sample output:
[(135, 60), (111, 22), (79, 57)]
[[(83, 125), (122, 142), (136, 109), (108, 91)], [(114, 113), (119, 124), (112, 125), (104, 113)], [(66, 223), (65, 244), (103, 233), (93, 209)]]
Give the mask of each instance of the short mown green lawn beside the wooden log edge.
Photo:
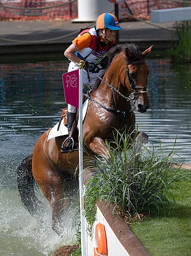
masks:
[(148, 218), (144, 222), (134, 222), (131, 225), (135, 235), (152, 256), (190, 255), (191, 171), (180, 171), (185, 178), (175, 182), (177, 186), (171, 191), (176, 204), (171, 205), (168, 218)]

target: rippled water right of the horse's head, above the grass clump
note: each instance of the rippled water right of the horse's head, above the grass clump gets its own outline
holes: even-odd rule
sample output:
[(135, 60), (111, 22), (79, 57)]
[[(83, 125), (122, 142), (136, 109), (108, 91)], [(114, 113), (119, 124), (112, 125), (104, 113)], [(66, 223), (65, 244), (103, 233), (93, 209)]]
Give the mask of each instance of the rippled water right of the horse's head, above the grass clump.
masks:
[(150, 59), (149, 99), (146, 115), (137, 113), (141, 130), (149, 135), (154, 144), (170, 152), (175, 143), (177, 161), (191, 160), (191, 67), (173, 67), (168, 59)]

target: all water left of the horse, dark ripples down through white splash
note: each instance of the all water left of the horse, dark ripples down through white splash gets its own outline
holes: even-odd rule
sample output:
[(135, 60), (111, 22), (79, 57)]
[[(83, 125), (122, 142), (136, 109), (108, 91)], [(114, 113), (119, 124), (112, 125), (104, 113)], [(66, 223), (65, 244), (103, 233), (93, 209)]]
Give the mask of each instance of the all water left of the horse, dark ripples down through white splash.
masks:
[[(53, 255), (75, 242), (73, 211), (65, 216), (62, 237), (51, 228), (51, 209), (44, 200), (43, 225), (21, 205), (16, 167), (33, 151), (46, 129), (57, 123), (64, 106), (61, 74), (66, 62), (0, 64), (0, 255)], [(41, 198), (41, 201), (43, 198)]]

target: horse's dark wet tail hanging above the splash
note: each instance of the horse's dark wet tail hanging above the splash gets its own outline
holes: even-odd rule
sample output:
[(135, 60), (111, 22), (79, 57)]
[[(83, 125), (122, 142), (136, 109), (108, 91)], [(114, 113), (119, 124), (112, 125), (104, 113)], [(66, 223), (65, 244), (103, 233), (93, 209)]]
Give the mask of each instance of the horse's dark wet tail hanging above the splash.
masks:
[(27, 156), (17, 168), (17, 187), (24, 208), (33, 215), (39, 215), (41, 201), (35, 195), (35, 179), (32, 174), (32, 155)]

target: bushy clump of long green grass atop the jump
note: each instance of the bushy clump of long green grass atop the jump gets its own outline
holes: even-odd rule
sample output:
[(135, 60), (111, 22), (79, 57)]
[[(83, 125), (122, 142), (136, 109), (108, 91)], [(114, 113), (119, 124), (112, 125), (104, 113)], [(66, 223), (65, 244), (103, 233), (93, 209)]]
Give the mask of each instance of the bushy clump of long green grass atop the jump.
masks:
[(118, 133), (114, 146), (107, 143), (110, 158), (96, 156), (88, 167), (93, 170), (85, 191), (85, 217), (90, 227), (98, 200), (115, 204), (130, 221), (150, 214), (167, 215), (170, 201), (175, 201), (171, 189), (183, 177), (179, 169), (171, 170), (176, 150), (164, 155), (161, 144), (156, 149), (143, 146), (139, 135), (130, 144), (130, 136)]

